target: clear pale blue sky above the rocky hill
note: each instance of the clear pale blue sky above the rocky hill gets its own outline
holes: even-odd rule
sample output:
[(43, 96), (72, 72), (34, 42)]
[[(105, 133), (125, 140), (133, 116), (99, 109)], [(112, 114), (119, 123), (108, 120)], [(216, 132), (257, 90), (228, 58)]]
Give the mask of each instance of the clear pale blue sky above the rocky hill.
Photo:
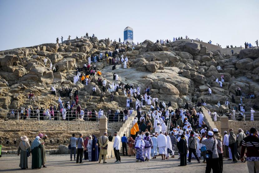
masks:
[(258, 0), (0, 0), (0, 50), (86, 32), (123, 40), (127, 26), (135, 43), (188, 35), (244, 47), (259, 39), (258, 8)]

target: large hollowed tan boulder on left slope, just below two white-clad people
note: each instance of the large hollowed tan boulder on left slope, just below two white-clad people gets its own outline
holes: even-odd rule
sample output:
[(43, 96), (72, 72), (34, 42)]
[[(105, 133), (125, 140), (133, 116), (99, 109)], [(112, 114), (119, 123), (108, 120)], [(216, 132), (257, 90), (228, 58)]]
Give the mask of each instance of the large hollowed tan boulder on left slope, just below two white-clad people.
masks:
[(46, 67), (35, 67), (28, 74), (37, 76), (39, 82), (51, 84), (53, 81), (53, 72)]

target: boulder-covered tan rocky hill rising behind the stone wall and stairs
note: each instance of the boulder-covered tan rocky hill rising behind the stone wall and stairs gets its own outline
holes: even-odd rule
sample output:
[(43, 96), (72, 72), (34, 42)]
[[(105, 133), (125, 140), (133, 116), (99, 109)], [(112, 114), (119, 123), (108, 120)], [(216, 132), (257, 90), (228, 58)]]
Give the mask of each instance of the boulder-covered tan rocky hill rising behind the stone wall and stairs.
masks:
[[(133, 48), (134, 47), (134, 50)], [(115, 51), (115, 48), (125, 48), (128, 57), (128, 67), (117, 65), (115, 70), (104, 59), (96, 63), (96, 69), (102, 75), (93, 77), (91, 84), (84, 86), (77, 82), (73, 84), (73, 77), (77, 68), (87, 63), (87, 58), (100, 52)], [(47, 65), (44, 65), (44, 59)], [(16, 48), (0, 51), (0, 108), (16, 109), (20, 107), (49, 107), (57, 105), (58, 90), (62, 87), (72, 87), (79, 90), (79, 104), (90, 109), (124, 109), (126, 98), (119, 90), (115, 93), (114, 101), (110, 101), (110, 92), (105, 91), (105, 103), (99, 104), (99, 96), (91, 96), (91, 89), (95, 85), (97, 94), (101, 88), (96, 85), (98, 77), (106, 79), (107, 84), (113, 82), (113, 73), (119, 75), (116, 83), (139, 85), (144, 95), (144, 88), (149, 85), (151, 97), (157, 97), (159, 102), (166, 104), (171, 101), (173, 108), (178, 108), (188, 102), (193, 107), (203, 100), (211, 111), (218, 113), (229, 112), (225, 100), (229, 99), (231, 107), (240, 103), (240, 97), (235, 96), (235, 89), (240, 87), (244, 94), (259, 95), (259, 48), (243, 49), (233, 56), (221, 54), (220, 51), (208, 51), (200, 43), (189, 40), (178, 40), (161, 45), (145, 40), (142, 45), (122, 45), (111, 43), (108, 39), (98, 40), (96, 37), (67, 40), (63, 43), (45, 43), (27, 48)], [(153, 61), (151, 61), (153, 59)], [(49, 69), (50, 62), (58, 66), (58, 72)], [(217, 65), (224, 69), (217, 69)], [(91, 64), (92, 65), (92, 64)], [(81, 72), (83, 73), (83, 72)], [(215, 82), (224, 75), (222, 88)], [(51, 86), (55, 85), (57, 97), (51, 95)], [(208, 87), (212, 89), (208, 96)], [(35, 94), (35, 103), (30, 104), (27, 95)], [(235, 102), (232, 103), (232, 94)], [(69, 98), (62, 98), (68, 101)], [(217, 106), (220, 101), (222, 106)], [(243, 103), (249, 111), (253, 105), (258, 105), (259, 99), (245, 99)], [(133, 102), (133, 105), (135, 102)], [(2, 114), (4, 115), (4, 114)]]

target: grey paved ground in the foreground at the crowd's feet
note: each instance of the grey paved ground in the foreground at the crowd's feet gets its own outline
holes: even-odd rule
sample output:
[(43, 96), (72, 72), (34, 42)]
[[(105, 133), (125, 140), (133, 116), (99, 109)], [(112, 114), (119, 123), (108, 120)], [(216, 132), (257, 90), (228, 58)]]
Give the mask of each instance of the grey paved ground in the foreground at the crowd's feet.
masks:
[[(178, 158), (178, 157), (177, 157)], [(179, 167), (180, 161), (177, 158), (170, 158), (169, 160), (160, 161), (160, 158), (150, 160), (149, 162), (137, 163), (134, 157), (121, 157), (121, 163), (114, 163), (115, 159), (107, 160), (106, 164), (99, 164), (98, 162), (88, 162), (84, 160), (83, 164), (76, 164), (75, 161), (70, 161), (69, 155), (48, 155), (47, 168), (42, 169), (27, 169), (21, 170), (19, 168), (19, 156), (4, 156), (0, 158), (0, 172), (26, 172), (26, 173), (72, 173), (72, 172), (91, 172), (91, 173), (132, 173), (132, 172), (156, 172), (156, 173), (204, 173), (206, 164), (193, 163), (187, 166)], [(29, 157), (29, 167), (32, 163), (32, 157)], [(247, 164), (245, 163), (231, 163), (225, 160), (223, 164), (224, 173), (248, 173)]]

